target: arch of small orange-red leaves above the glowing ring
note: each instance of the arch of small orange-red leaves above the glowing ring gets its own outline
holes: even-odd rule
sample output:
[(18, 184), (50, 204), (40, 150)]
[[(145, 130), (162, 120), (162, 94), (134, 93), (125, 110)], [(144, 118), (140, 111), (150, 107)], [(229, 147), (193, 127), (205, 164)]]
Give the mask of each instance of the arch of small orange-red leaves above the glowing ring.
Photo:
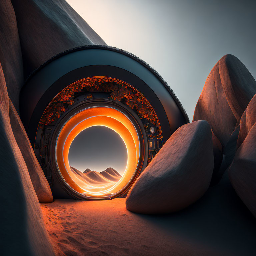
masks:
[(74, 95), (79, 92), (109, 92), (110, 99), (126, 104), (136, 110), (140, 119), (145, 118), (160, 129), (156, 113), (147, 99), (129, 84), (109, 77), (84, 78), (67, 86), (46, 108), (40, 121), (40, 127), (49, 125), (60, 118), (66, 111), (66, 107), (74, 104)]

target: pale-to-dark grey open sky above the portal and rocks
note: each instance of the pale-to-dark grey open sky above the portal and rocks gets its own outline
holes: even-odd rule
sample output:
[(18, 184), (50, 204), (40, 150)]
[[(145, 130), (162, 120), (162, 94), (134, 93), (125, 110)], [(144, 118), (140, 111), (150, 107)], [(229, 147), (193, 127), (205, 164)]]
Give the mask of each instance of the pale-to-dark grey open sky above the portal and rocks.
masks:
[(192, 121), (205, 80), (225, 54), (256, 77), (256, 1), (67, 0), (109, 45), (151, 65)]

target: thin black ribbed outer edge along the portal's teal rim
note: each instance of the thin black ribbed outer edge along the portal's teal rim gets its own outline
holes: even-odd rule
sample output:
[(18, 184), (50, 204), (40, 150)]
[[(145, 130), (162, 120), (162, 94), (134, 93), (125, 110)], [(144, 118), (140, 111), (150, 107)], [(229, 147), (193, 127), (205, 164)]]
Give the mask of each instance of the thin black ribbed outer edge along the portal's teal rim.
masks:
[[(24, 84), (27, 83), (27, 81), (31, 78), (31, 76), (33, 76), (36, 72), (38, 72), (41, 68), (43, 68), (44, 66), (46, 66), (49, 62), (63, 56), (63, 55), (66, 55), (70, 52), (74, 52), (74, 51), (77, 51), (77, 50), (82, 50), (82, 49), (86, 49), (86, 48), (95, 48), (95, 49), (109, 49), (109, 50), (115, 50), (115, 51), (118, 51), (120, 53), (124, 53), (125, 55), (129, 56), (129, 57), (132, 57), (133, 59), (139, 61), (141, 64), (143, 64), (146, 68), (148, 68), (150, 71), (153, 71), (153, 73), (158, 77), (158, 79), (165, 85), (165, 87), (171, 92), (176, 104), (178, 105), (178, 107), (180, 108), (180, 110), (183, 112), (184, 114), (184, 117), (187, 121), (187, 123), (189, 123), (189, 117), (187, 115), (187, 112), (186, 110), (184, 109), (184, 107), (182, 106), (180, 100), (178, 99), (178, 97), (176, 96), (176, 94), (174, 93), (174, 91), (172, 90), (172, 88), (167, 84), (167, 82), (163, 79), (163, 77), (161, 75), (159, 75), (159, 73), (154, 69), (152, 68), (148, 63), (146, 63), (144, 60), (142, 60), (141, 58), (137, 57), (136, 55), (128, 52), (128, 51), (125, 51), (125, 50), (122, 50), (120, 48), (117, 48), (117, 47), (113, 47), (113, 46), (106, 46), (106, 45), (97, 45), (97, 44), (93, 44), (93, 45), (85, 45), (85, 46), (78, 46), (78, 47), (74, 47), (74, 48), (71, 48), (69, 50), (66, 50), (66, 51), (63, 51), (63, 52), (60, 52), (56, 55), (54, 55), (53, 57), (51, 57), (50, 59), (48, 59), (47, 61), (45, 61), (42, 65), (40, 65), (37, 69), (35, 69), (28, 77), (27, 79), (25, 80)], [(23, 84), (23, 85), (24, 85)]]

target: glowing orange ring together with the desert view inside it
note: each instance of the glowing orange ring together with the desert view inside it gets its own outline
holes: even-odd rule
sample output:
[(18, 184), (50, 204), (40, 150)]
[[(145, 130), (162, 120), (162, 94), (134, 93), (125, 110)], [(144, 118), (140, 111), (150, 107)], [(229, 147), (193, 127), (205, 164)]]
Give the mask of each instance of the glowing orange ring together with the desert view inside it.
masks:
[(68, 186), (88, 199), (112, 198), (126, 191), (138, 175), (144, 151), (134, 122), (110, 105), (83, 108), (72, 115), (59, 131), (55, 150), (58, 171)]

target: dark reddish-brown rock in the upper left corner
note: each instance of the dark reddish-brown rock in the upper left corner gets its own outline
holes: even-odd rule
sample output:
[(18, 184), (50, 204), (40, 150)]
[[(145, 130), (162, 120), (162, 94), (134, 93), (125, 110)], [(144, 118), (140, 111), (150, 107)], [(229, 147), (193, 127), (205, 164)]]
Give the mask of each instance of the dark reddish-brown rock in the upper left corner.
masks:
[(0, 1), (0, 62), (7, 91), (19, 111), (19, 93), (23, 84), (23, 65), (15, 13), (10, 0)]

